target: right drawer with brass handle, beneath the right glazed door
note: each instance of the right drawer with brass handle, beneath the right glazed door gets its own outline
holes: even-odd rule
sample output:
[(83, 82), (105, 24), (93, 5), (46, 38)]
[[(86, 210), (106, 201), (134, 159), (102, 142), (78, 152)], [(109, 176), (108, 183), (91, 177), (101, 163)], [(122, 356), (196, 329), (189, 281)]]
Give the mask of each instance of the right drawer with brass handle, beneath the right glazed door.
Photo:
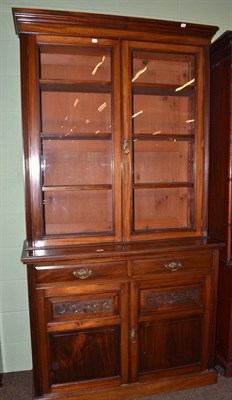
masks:
[(210, 271), (213, 268), (212, 252), (175, 252), (164, 257), (134, 260), (132, 262), (132, 275), (184, 274), (186, 272)]

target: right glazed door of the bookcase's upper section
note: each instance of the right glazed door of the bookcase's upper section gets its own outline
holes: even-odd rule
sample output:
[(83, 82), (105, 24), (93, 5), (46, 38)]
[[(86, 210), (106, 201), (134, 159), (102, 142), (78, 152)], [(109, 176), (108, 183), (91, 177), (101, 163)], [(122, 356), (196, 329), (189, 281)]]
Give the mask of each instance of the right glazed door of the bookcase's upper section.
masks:
[(203, 50), (122, 46), (125, 237), (201, 235)]

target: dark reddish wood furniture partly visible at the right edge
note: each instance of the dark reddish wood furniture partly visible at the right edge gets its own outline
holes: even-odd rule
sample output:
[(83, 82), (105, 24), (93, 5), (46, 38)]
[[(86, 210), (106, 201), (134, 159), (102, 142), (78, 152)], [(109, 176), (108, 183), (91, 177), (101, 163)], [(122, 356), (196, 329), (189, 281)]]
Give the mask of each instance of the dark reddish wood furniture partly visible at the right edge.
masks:
[(211, 172), (209, 232), (221, 253), (216, 363), (232, 376), (232, 32), (211, 47)]

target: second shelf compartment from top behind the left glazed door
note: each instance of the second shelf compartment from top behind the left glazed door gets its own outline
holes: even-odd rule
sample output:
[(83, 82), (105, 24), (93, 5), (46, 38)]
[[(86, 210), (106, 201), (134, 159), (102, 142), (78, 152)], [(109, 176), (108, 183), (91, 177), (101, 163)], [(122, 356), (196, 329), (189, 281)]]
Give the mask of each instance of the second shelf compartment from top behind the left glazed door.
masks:
[(42, 92), (42, 131), (67, 136), (111, 132), (111, 95)]

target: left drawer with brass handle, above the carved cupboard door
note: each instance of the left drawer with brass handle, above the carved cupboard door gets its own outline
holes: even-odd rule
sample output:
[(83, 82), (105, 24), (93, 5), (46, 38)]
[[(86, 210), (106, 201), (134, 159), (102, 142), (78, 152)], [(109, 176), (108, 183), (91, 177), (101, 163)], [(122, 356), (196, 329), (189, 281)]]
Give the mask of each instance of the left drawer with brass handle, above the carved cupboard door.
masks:
[(91, 282), (98, 279), (117, 279), (127, 276), (127, 262), (112, 261), (56, 266), (35, 266), (36, 283)]

